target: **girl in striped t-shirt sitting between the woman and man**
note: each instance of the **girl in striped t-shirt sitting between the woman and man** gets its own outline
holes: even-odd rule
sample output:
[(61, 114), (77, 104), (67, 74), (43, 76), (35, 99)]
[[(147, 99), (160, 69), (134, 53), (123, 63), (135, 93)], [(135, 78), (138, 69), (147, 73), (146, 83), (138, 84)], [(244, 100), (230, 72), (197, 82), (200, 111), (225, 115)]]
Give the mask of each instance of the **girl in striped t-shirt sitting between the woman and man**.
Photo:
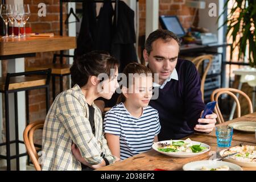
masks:
[[(151, 149), (158, 142), (158, 111), (148, 106), (152, 97), (152, 73), (142, 64), (130, 63), (123, 70), (127, 86), (122, 86), (118, 105), (104, 119), (105, 137), (113, 155), (126, 159)], [(139, 76), (129, 77), (129, 73)], [(129, 85), (130, 84), (130, 85)]]

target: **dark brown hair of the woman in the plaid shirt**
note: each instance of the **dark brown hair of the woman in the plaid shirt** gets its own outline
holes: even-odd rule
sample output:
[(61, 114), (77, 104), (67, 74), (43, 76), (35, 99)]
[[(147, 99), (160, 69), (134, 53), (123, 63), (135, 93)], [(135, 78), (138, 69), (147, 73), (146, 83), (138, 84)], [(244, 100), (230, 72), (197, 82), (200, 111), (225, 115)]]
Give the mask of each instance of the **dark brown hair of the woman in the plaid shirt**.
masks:
[(118, 61), (105, 51), (92, 51), (77, 57), (70, 68), (72, 84), (80, 87), (87, 84), (89, 76), (98, 76), (106, 73), (109, 78), (111, 69), (118, 68)]

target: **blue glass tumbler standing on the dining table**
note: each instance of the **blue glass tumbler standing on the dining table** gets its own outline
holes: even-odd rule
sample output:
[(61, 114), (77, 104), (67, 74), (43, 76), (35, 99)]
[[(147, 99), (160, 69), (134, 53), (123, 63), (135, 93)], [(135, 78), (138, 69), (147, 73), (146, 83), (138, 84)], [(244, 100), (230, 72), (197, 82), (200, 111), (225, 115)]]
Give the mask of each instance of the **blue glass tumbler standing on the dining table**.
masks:
[(217, 126), (216, 137), (218, 147), (230, 147), (233, 136), (233, 128), (229, 126)]

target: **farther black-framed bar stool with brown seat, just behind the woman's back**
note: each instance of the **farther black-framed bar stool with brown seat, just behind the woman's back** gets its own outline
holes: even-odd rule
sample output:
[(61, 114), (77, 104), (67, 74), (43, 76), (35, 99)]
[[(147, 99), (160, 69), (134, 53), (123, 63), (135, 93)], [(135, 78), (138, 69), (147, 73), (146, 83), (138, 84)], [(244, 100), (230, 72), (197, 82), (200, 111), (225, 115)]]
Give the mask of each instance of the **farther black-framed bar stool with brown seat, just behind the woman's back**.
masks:
[[(60, 57), (60, 63), (56, 63), (56, 58)], [(72, 65), (70, 64), (63, 64), (63, 59), (62, 57), (74, 57), (72, 55), (59, 55), (59, 54), (54, 54), (53, 55), (53, 61), (51, 64), (46, 64), (46, 65), (39, 65), (39, 66), (34, 66), (34, 67), (27, 67), (26, 71), (38, 71), (38, 70), (43, 70), (43, 69), (52, 69), (52, 97), (53, 100), (55, 100), (55, 77), (60, 78), (60, 92), (63, 91), (63, 77), (70, 75), (70, 68)]]

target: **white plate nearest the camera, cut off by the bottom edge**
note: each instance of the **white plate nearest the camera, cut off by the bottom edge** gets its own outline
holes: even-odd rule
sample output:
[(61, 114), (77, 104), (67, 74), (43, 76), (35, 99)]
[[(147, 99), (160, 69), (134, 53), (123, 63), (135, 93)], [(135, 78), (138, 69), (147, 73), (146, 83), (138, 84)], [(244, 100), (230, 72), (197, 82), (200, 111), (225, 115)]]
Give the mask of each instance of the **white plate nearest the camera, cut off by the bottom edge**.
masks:
[(237, 164), (228, 163), (224, 161), (213, 161), (213, 160), (199, 160), (191, 163), (187, 163), (183, 166), (184, 171), (201, 171), (202, 167), (217, 168), (221, 166), (228, 166), (229, 171), (242, 171), (243, 169)]

